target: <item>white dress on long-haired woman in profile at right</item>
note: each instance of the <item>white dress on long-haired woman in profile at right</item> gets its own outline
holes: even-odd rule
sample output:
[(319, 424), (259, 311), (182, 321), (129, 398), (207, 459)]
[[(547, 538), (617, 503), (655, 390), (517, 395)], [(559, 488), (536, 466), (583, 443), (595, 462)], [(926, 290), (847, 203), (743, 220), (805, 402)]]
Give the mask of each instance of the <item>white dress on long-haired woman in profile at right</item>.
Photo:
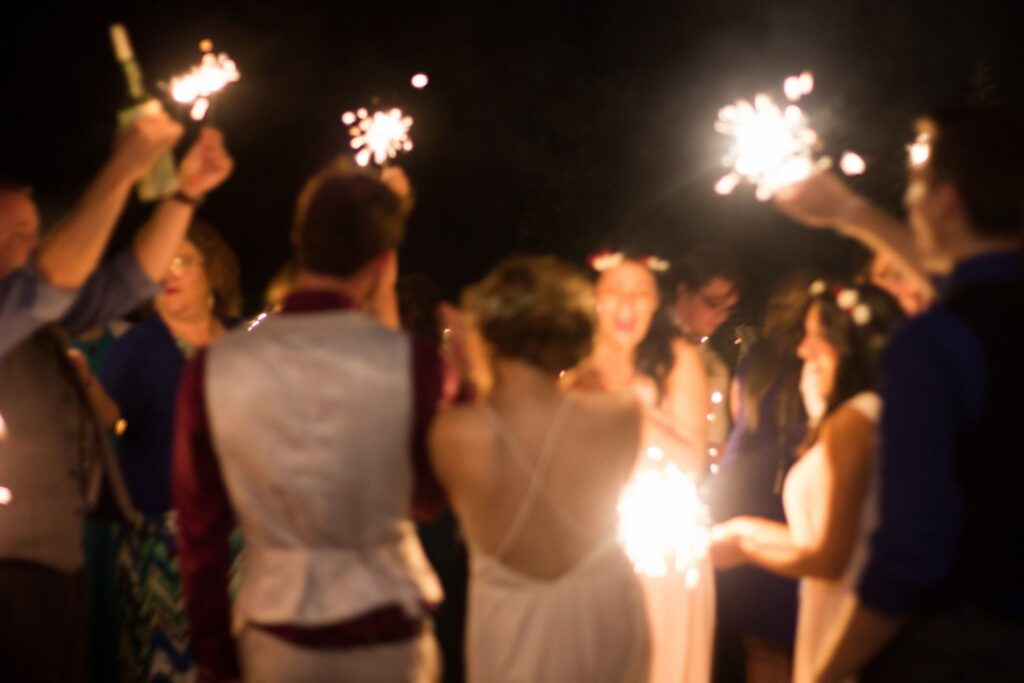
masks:
[[(869, 391), (850, 398), (845, 405), (857, 410), (872, 424), (878, 422), (882, 413), (882, 399), (877, 393)], [(825, 515), (823, 494), (828, 476), (824, 449), (819, 442), (797, 461), (785, 477), (782, 504), (790, 533), (798, 546), (815, 543), (821, 535)], [(842, 485), (842, 482), (837, 482), (837, 485)], [(800, 581), (800, 612), (797, 618), (793, 673), (793, 680), (797, 683), (811, 680), (825, 638), (839, 620), (843, 602), (855, 590), (867, 558), (868, 540), (878, 522), (877, 490), (878, 486), (872, 478), (864, 500), (853, 556), (843, 575), (835, 581), (810, 578)]]

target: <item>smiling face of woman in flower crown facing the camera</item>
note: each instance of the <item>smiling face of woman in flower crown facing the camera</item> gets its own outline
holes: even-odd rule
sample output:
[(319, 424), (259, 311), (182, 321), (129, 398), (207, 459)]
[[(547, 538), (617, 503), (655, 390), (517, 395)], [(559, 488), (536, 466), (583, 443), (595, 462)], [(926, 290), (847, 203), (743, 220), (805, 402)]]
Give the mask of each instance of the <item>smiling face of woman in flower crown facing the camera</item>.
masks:
[(654, 275), (636, 261), (623, 261), (601, 273), (595, 296), (598, 337), (618, 348), (636, 348), (657, 308)]

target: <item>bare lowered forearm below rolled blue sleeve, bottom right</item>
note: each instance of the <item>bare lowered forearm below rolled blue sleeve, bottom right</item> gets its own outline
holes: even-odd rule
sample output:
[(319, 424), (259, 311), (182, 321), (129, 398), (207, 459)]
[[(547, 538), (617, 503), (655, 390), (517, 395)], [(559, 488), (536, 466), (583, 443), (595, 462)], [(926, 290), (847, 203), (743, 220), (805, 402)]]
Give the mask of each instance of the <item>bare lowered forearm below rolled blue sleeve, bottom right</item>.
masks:
[(902, 618), (887, 616), (848, 597), (835, 627), (828, 633), (815, 681), (845, 680), (861, 671), (895, 637)]

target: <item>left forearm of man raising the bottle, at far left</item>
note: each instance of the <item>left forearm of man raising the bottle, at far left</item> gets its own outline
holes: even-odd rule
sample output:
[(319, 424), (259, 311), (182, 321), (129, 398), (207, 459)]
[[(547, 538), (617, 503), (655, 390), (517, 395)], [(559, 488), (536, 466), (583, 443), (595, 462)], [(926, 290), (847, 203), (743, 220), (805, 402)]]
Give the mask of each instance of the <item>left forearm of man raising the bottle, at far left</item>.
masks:
[(117, 163), (102, 168), (36, 254), (36, 268), (49, 284), (65, 290), (82, 287), (102, 257), (132, 184), (132, 174)]

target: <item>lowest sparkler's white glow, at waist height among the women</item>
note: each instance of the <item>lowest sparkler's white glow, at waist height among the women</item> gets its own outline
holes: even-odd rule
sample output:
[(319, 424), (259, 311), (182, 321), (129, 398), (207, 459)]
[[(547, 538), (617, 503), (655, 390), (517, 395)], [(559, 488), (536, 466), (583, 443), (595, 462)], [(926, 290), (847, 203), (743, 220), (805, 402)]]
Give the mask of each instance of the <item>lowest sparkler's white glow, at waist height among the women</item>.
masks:
[(618, 539), (636, 571), (682, 572), (692, 587), (708, 555), (709, 519), (692, 477), (665, 462), (660, 449), (647, 449), (618, 502)]

